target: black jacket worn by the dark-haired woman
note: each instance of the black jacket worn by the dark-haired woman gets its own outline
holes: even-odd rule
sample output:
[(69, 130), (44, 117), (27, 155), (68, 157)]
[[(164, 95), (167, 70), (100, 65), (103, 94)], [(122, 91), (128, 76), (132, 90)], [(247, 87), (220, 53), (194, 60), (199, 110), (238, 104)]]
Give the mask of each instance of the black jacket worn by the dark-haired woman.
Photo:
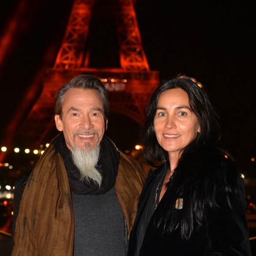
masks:
[[(227, 169), (235, 169), (233, 164), (222, 158), (217, 172), (228, 173)], [(147, 200), (153, 188), (154, 181), (160, 175), (163, 166), (150, 171), (144, 184), (138, 207), (138, 213), (129, 241), (128, 256), (134, 256), (137, 242), (137, 228)], [(235, 170), (236, 171), (236, 170)], [(220, 181), (222, 183), (222, 181)], [(231, 196), (232, 210), (227, 211), (221, 206), (218, 211), (209, 214), (207, 224), (194, 223), (194, 230), (189, 240), (181, 238), (180, 227), (172, 233), (162, 233), (163, 227), (155, 227), (153, 219), (159, 219), (164, 204), (168, 202), (166, 193), (154, 211), (147, 226), (147, 231), (139, 252), (139, 256), (251, 256), (248, 240), (248, 223), (245, 216), (245, 189), (244, 180), (237, 171), (237, 194)], [(225, 208), (225, 209), (224, 209)], [(182, 215), (182, 209), (178, 211), (178, 218)]]

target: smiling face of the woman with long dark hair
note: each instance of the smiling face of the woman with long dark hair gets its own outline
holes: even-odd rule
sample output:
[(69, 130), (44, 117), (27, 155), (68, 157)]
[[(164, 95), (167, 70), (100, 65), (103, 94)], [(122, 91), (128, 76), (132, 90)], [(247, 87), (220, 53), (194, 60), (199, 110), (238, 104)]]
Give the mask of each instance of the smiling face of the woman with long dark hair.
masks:
[(160, 146), (177, 158), (200, 132), (196, 114), (192, 112), (188, 94), (178, 88), (162, 92), (154, 117), (154, 130)]

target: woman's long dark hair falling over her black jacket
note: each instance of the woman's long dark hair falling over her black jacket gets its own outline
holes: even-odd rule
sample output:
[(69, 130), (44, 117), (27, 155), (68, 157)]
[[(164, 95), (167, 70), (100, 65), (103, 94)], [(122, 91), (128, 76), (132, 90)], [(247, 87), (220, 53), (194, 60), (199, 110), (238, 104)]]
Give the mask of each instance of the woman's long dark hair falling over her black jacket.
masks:
[[(230, 195), (236, 191), (237, 170), (224, 157), (226, 152), (215, 147), (221, 136), (218, 116), (203, 86), (184, 75), (158, 83), (149, 99), (142, 130), (146, 161), (154, 167), (165, 163), (165, 168), (169, 168), (168, 152), (159, 145), (155, 135), (154, 117), (160, 95), (166, 90), (176, 88), (188, 94), (190, 108), (196, 114), (200, 125), (200, 133), (181, 152), (162, 198), (164, 210), (159, 213), (158, 218), (155, 217), (154, 223), (163, 233), (173, 232), (180, 227), (181, 237), (189, 239), (195, 222), (200, 225), (207, 222), (209, 209), (215, 211), (219, 207), (232, 208)], [(177, 210), (179, 198), (183, 200), (182, 210)], [(219, 198), (226, 203), (220, 206)], [(182, 214), (179, 215), (178, 211)]]

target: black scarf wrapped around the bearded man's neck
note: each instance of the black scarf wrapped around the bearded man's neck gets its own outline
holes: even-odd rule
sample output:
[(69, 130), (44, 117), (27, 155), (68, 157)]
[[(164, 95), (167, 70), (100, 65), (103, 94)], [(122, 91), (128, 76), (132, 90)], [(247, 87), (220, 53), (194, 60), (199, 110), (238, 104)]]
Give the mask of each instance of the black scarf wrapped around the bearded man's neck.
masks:
[(53, 143), (56, 148), (55, 152), (60, 153), (63, 158), (72, 192), (80, 195), (100, 195), (105, 194), (113, 187), (119, 166), (119, 152), (108, 137), (104, 136), (100, 144), (100, 158), (97, 168), (102, 174), (102, 184), (100, 188), (98, 184), (95, 184), (92, 180), (79, 181), (80, 171), (72, 161), (71, 151), (66, 145), (63, 133), (57, 136)]

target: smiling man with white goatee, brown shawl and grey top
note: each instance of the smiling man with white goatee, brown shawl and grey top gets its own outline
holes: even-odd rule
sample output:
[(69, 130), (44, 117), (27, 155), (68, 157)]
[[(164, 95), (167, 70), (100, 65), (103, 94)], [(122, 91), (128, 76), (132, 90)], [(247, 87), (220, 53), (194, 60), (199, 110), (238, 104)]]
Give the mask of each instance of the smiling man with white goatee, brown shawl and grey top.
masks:
[(108, 114), (94, 76), (57, 91), (61, 133), (15, 183), (12, 255), (126, 255), (145, 173), (104, 136)]

